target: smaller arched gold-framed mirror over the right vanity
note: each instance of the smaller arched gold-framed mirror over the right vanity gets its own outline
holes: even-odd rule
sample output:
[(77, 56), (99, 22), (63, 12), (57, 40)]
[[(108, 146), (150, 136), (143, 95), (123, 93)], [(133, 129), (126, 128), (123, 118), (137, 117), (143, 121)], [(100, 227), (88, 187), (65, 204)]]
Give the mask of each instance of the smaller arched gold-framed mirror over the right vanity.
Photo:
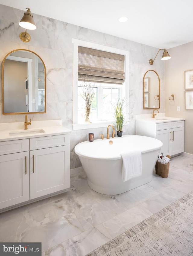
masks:
[(148, 70), (143, 79), (144, 109), (160, 108), (160, 78), (154, 70)]

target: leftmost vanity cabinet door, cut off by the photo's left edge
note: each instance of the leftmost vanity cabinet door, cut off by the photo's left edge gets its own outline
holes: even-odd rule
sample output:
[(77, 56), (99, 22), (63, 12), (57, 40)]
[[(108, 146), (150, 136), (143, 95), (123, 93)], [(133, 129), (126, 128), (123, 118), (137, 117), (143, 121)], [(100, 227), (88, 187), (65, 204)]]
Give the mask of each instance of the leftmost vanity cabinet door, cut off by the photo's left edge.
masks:
[(29, 151), (0, 156), (0, 209), (30, 199)]

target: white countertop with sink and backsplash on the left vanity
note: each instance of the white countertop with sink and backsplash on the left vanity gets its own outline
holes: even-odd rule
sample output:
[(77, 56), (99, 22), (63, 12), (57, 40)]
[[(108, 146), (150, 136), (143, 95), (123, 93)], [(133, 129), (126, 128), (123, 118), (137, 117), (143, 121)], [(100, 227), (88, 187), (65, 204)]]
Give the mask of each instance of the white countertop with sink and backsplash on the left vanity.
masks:
[[(51, 135), (70, 134), (72, 131), (62, 126), (62, 120), (32, 121), (24, 130), (24, 122), (0, 124), (0, 141), (37, 138)], [(40, 132), (38, 132), (40, 130)]]

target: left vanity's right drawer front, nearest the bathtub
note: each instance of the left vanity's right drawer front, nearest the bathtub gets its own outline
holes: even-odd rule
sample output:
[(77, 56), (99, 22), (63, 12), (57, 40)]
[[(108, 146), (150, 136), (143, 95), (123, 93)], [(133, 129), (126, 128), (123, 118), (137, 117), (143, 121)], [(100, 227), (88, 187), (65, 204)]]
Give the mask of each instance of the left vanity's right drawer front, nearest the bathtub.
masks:
[(68, 134), (53, 135), (30, 139), (30, 150), (58, 147), (70, 144), (70, 136)]

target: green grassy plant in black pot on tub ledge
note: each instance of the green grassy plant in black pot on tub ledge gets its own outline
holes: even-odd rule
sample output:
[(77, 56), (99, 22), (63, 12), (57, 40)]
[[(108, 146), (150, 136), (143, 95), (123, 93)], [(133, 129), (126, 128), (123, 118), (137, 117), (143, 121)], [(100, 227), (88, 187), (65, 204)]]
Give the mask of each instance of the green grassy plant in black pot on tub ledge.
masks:
[(128, 104), (126, 104), (126, 99), (120, 99), (118, 98), (118, 102), (116, 103), (116, 105), (112, 105), (113, 109), (114, 109), (114, 118), (115, 118), (115, 122), (116, 122), (116, 128), (117, 128), (117, 136), (121, 137), (122, 136), (122, 128), (123, 126), (128, 123), (128, 121), (126, 121), (126, 115), (127, 113), (125, 112), (125, 108), (127, 107)]

